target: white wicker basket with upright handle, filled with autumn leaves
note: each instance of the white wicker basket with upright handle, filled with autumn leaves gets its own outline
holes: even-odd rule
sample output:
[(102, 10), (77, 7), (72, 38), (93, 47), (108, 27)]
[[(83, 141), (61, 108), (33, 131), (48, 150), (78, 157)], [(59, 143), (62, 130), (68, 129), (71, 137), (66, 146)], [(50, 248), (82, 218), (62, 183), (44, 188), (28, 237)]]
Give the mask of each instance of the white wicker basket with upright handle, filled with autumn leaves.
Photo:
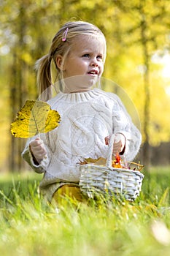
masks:
[(80, 165), (80, 189), (84, 195), (90, 198), (96, 195), (109, 195), (125, 197), (134, 201), (139, 196), (144, 175), (138, 170), (112, 167), (112, 145), (115, 136), (109, 143), (107, 166)]

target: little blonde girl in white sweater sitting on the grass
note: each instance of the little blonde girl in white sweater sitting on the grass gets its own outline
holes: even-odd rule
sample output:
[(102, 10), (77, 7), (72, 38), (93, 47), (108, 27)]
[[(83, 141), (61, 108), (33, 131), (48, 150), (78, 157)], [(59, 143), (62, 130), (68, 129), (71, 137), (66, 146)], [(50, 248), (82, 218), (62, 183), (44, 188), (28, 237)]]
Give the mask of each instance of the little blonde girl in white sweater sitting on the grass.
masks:
[[(112, 93), (94, 88), (104, 71), (106, 39), (93, 24), (66, 23), (53, 38), (50, 51), (36, 62), (42, 99), (61, 116), (59, 127), (28, 140), (23, 158), (44, 173), (40, 191), (51, 201), (69, 195), (82, 200), (80, 170), (85, 158), (107, 158), (110, 135), (113, 154), (134, 159), (141, 134), (123, 103)], [(55, 64), (60, 91), (51, 98), (51, 64)]]

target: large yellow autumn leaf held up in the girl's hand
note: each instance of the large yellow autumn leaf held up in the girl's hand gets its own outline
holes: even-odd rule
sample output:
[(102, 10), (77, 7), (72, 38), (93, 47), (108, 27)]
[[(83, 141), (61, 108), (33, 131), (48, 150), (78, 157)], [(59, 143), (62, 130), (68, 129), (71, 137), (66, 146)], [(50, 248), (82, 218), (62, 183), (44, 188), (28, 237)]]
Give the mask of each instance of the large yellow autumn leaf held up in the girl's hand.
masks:
[(11, 124), (11, 132), (16, 138), (31, 138), (38, 133), (50, 132), (60, 121), (58, 111), (51, 110), (46, 102), (27, 100)]

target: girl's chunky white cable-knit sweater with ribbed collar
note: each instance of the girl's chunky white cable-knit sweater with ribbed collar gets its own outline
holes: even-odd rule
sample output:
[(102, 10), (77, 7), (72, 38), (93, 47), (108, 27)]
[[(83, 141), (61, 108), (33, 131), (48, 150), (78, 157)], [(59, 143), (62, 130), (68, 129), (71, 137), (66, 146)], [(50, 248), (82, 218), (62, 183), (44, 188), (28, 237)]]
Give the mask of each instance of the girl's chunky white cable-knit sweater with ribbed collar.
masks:
[(44, 173), (40, 190), (50, 200), (62, 184), (78, 184), (78, 162), (85, 158), (107, 158), (104, 138), (112, 133), (125, 135), (128, 161), (134, 159), (141, 144), (141, 134), (134, 126), (120, 99), (99, 89), (73, 94), (59, 93), (47, 102), (61, 115), (61, 124), (51, 132), (41, 134), (47, 157), (35, 165), (28, 139), (23, 158), (36, 171)]

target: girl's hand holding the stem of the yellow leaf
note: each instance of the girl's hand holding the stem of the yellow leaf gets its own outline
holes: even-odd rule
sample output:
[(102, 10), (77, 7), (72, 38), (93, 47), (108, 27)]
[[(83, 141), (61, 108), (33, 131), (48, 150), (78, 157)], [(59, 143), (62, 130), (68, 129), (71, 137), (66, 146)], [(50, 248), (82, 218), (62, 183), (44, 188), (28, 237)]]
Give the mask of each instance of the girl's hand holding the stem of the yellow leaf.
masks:
[(31, 141), (29, 146), (30, 146), (31, 154), (35, 157), (36, 161), (38, 163), (41, 162), (42, 159), (47, 154), (43, 140), (41, 140), (40, 138), (36, 138), (35, 140)]

